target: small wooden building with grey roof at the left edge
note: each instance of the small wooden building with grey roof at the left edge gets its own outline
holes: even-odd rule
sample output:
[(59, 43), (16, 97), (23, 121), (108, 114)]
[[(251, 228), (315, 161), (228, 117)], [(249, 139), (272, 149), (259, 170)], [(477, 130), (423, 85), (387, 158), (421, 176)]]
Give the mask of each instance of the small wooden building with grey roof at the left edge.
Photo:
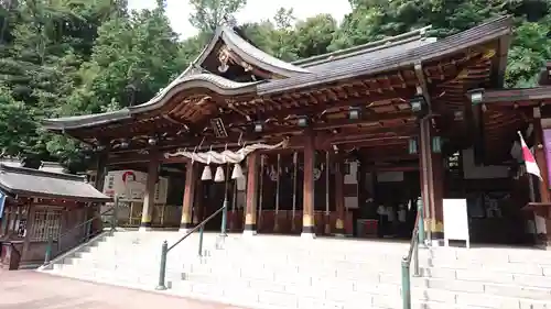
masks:
[(80, 176), (0, 164), (0, 267), (41, 265), (50, 238), (60, 250), (79, 244), (89, 231), (66, 232), (110, 200)]

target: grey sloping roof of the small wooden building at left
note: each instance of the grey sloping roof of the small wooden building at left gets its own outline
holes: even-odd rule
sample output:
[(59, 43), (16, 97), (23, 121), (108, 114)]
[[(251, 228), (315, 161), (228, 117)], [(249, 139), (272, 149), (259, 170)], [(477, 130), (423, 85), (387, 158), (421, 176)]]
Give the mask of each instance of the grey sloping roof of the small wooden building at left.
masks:
[(0, 164), (0, 189), (7, 194), (33, 198), (62, 198), (76, 201), (110, 201), (86, 178)]

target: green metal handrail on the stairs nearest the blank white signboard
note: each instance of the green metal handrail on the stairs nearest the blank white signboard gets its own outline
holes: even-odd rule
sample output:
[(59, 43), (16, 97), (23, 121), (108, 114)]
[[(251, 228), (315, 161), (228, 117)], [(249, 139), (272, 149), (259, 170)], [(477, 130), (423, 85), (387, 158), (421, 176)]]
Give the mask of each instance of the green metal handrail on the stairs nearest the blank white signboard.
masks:
[(423, 202), (420, 199), (417, 207), (415, 225), (413, 227), (408, 255), (403, 256), (401, 261), (403, 309), (411, 309), (411, 261), (413, 261), (413, 276), (419, 277), (421, 275), (419, 272), (419, 244), (424, 243), (424, 222)]

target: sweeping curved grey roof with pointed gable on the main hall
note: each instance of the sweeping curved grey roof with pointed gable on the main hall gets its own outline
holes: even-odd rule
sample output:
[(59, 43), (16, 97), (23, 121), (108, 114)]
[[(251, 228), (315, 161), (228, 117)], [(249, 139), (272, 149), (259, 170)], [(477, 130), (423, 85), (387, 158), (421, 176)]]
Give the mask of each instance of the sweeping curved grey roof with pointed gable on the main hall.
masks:
[[(175, 93), (191, 88), (206, 88), (223, 96), (241, 93), (262, 96), (317, 86), (355, 76), (367, 76), (442, 57), (458, 49), (509, 35), (511, 21), (509, 16), (497, 18), (437, 42), (423, 37), (423, 32), (428, 29), (424, 27), (358, 47), (299, 60), (294, 64), (284, 63), (261, 52), (231, 29), (220, 26), (196, 60), (150, 101), (115, 112), (45, 120), (43, 124), (46, 129), (61, 131), (116, 122), (132, 118), (133, 114), (140, 112), (158, 109)], [(255, 60), (253, 64), (262, 69), (288, 76), (288, 78), (237, 82), (218, 75), (204, 73), (201, 64), (213, 52), (219, 40), (234, 48), (233, 51), (244, 59)]]

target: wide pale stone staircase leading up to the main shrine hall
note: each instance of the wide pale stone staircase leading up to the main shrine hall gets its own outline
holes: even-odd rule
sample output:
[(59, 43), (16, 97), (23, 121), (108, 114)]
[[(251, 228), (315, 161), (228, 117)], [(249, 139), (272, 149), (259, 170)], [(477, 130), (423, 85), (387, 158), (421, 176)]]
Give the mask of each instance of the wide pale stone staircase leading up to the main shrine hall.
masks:
[[(116, 232), (41, 269), (153, 290), (161, 243), (176, 232)], [(400, 261), (409, 243), (296, 236), (198, 234), (168, 257), (162, 293), (248, 308), (402, 308)], [(528, 249), (420, 249), (413, 308), (551, 309), (551, 252)]]

